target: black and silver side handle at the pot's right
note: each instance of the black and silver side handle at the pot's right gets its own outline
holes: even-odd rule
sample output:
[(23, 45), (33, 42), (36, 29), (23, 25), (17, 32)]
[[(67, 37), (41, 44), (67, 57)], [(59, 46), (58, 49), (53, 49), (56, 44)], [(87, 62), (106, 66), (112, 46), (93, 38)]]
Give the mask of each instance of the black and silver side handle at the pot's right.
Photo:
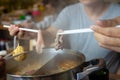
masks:
[(74, 71), (73, 75), (75, 79), (82, 80), (92, 72), (100, 70), (104, 67), (106, 67), (104, 59), (93, 59), (91, 61), (84, 62), (82, 65), (80, 65), (79, 71), (77, 72)]

